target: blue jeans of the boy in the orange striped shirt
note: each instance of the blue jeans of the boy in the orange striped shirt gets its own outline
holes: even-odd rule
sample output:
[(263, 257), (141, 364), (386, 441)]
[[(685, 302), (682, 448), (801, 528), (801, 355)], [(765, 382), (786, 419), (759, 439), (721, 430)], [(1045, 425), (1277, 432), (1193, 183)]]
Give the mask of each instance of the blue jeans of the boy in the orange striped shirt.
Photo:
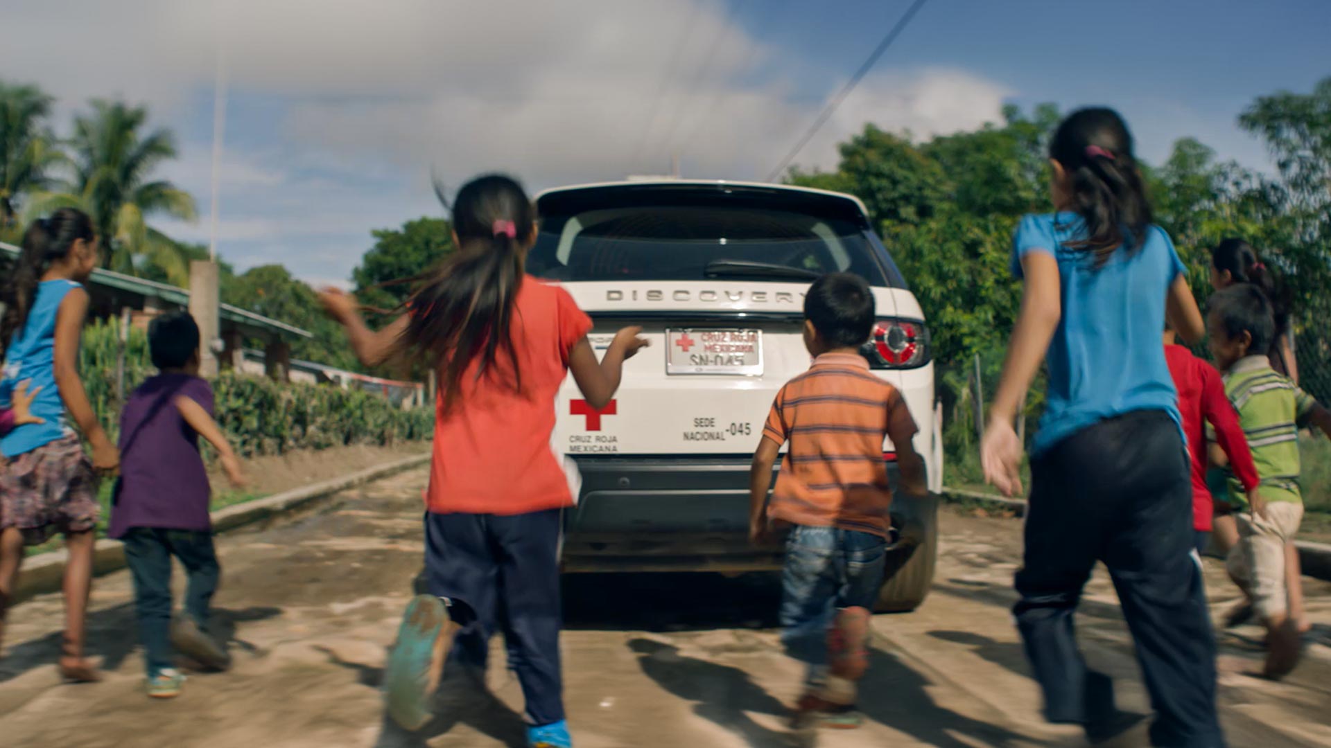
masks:
[(836, 527), (795, 526), (781, 571), (781, 643), (809, 665), (811, 685), (827, 668), (827, 634), (840, 608), (873, 610), (882, 587), (886, 539)]

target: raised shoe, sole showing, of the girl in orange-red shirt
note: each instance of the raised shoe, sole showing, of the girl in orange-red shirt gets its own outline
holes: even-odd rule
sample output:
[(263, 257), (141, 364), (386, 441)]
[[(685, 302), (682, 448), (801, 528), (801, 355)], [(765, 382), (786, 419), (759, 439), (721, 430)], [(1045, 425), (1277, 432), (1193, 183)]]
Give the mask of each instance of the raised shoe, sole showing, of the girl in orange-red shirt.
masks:
[(393, 721), (411, 732), (434, 719), (434, 695), (457, 631), (449, 607), (433, 595), (417, 595), (402, 614), (385, 668), (383, 697)]

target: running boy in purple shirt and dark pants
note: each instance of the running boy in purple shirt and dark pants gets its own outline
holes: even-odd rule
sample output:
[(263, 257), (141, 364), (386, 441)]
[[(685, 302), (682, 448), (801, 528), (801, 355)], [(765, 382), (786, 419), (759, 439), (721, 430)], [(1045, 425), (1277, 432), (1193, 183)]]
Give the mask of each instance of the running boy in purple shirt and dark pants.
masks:
[[(148, 695), (170, 699), (185, 680), (172, 647), (225, 669), (225, 647), (208, 635), (220, 568), (208, 515), (212, 491), (198, 437), (217, 450), (232, 484), (245, 484), (240, 461), (213, 421), (213, 390), (198, 378), (198, 325), (189, 314), (153, 319), (148, 346), (160, 374), (129, 397), (120, 415), (120, 480), (106, 534), (125, 543), (148, 665)], [(189, 576), (185, 615), (172, 624), (172, 556)]]

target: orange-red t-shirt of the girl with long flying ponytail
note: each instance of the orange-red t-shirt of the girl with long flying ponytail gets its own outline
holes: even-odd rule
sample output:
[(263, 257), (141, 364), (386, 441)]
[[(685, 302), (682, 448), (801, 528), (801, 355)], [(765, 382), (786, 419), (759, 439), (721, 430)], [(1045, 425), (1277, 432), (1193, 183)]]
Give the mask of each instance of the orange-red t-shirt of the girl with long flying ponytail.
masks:
[(568, 291), (527, 276), (508, 330), (522, 374), (520, 393), (504, 351), (479, 379), (473, 362), (453, 409), (445, 407), (439, 387), (429, 511), (526, 514), (572, 504), (550, 434), (568, 354), (591, 330), (591, 318)]

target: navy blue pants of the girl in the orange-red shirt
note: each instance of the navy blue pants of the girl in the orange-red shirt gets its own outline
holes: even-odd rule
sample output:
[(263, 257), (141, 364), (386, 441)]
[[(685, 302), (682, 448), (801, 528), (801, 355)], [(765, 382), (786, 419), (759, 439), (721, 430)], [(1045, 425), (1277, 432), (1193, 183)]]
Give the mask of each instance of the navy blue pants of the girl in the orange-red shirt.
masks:
[(425, 515), (430, 594), (463, 626), (450, 661), (484, 671), (502, 631), (508, 667), (535, 725), (564, 719), (559, 671), (559, 544), (563, 511)]

